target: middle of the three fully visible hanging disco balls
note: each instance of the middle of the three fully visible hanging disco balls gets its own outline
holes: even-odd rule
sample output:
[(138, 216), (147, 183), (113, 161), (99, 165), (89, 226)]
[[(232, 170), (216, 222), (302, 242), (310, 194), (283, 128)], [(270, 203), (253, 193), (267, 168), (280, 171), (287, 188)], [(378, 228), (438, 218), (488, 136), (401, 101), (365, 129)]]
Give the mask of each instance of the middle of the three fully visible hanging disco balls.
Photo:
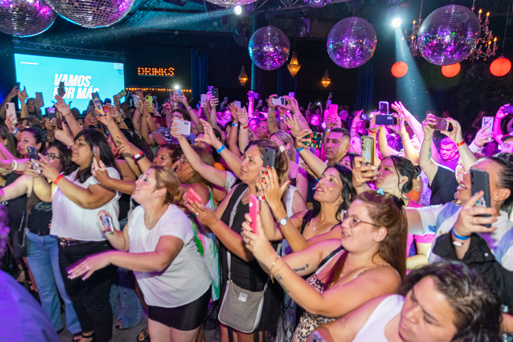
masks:
[(369, 22), (357, 16), (335, 24), (326, 42), (329, 57), (342, 68), (365, 64), (376, 50), (376, 31)]

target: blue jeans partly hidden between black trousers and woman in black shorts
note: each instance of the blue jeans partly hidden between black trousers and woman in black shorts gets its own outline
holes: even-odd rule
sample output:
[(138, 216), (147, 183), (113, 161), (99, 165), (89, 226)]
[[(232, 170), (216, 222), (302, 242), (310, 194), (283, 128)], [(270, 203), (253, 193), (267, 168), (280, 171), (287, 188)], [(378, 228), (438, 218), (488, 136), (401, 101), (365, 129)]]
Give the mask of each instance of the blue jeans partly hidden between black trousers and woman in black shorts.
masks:
[(113, 316), (121, 319), (120, 329), (131, 328), (141, 321), (143, 306), (135, 293), (133, 271), (117, 269), (110, 287), (110, 305)]

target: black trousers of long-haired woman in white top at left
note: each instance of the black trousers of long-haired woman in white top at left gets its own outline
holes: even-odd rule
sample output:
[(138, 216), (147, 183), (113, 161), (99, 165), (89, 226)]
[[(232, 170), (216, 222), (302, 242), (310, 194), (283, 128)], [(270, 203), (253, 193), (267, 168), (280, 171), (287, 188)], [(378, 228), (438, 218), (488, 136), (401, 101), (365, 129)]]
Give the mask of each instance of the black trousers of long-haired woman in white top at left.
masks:
[(109, 303), (112, 277), (117, 267), (109, 265), (95, 271), (89, 278), (68, 278), (67, 268), (88, 255), (111, 250), (107, 240), (80, 242), (66, 246), (59, 244), (59, 267), (64, 286), (80, 321), (82, 331), (94, 330), (96, 342), (109, 342), (112, 338), (112, 307)]

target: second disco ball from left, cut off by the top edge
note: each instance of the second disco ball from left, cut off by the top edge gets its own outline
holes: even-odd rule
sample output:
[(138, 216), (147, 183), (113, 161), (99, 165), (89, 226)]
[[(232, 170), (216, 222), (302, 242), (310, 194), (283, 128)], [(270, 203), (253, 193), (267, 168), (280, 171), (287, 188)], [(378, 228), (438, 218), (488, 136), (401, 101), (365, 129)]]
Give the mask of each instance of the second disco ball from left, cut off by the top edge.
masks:
[(48, 2), (58, 14), (73, 24), (97, 28), (119, 22), (128, 14), (135, 0), (48, 0)]

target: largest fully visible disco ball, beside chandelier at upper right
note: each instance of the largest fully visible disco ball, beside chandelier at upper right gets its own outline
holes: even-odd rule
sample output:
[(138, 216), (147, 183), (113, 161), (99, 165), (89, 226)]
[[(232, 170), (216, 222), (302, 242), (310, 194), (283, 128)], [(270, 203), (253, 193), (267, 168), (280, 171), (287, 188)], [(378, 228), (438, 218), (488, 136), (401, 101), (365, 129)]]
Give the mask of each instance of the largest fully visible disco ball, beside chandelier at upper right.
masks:
[(417, 46), (429, 63), (456, 64), (476, 48), (480, 30), (479, 19), (470, 9), (447, 5), (427, 16), (420, 27)]

